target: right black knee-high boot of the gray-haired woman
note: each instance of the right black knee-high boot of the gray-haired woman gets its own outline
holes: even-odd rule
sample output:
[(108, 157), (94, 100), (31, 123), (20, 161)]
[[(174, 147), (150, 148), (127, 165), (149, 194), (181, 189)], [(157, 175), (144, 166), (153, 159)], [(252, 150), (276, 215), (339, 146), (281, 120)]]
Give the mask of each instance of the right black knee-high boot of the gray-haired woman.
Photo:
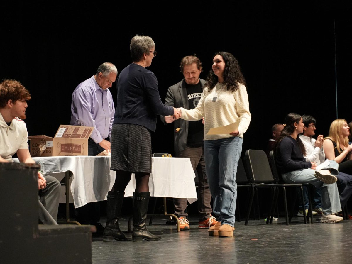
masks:
[(151, 234), (145, 225), (150, 192), (133, 193), (133, 241), (160, 240), (160, 235)]

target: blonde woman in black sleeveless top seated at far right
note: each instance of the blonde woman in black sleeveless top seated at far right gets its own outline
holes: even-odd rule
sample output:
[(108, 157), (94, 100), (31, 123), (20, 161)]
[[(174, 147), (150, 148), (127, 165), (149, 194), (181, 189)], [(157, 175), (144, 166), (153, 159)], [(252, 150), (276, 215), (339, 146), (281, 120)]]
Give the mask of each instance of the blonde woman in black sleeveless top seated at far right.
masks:
[(352, 175), (352, 145), (348, 145), (348, 136), (350, 127), (345, 119), (332, 121), (323, 149), (326, 158), (339, 163), (339, 171)]

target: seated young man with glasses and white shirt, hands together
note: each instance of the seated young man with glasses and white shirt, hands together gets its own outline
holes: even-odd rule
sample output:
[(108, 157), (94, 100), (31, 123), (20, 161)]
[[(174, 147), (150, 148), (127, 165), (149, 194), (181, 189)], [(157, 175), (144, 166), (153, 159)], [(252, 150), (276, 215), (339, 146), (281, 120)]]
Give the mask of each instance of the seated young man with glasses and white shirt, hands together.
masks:
[[(316, 130), (316, 120), (314, 117), (311, 115), (303, 115), (303, 134), (300, 135), (300, 139), (303, 142), (304, 148), (306, 150), (306, 161), (310, 162), (315, 162), (316, 165), (318, 166), (319, 164), (323, 163), (325, 161), (325, 154), (323, 151), (323, 136), (319, 135), (317, 139), (314, 139), (313, 136), (315, 135), (315, 130)], [(350, 198), (352, 194), (352, 176), (339, 172), (339, 175), (337, 177), (337, 187), (339, 190), (339, 196), (340, 196), (340, 203), (341, 207), (343, 208), (348, 199)], [(306, 189), (306, 188), (305, 188)], [(305, 191), (304, 195), (307, 197), (307, 192)], [(306, 210), (308, 210), (308, 198), (305, 199), (306, 205), (304, 207)], [(300, 208), (301, 209), (301, 208)], [(303, 210), (303, 206), (302, 209)], [(313, 204), (313, 211), (321, 214), (321, 190), (316, 189), (316, 192), (314, 194), (314, 204)]]

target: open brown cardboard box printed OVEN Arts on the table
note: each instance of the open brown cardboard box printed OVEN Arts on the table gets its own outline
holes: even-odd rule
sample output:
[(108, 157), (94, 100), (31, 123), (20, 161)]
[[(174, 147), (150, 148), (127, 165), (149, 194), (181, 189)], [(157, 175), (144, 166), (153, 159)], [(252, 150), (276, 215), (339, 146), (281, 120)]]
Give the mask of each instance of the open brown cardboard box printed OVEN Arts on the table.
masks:
[(87, 156), (88, 138), (93, 129), (90, 126), (60, 125), (54, 138), (30, 136), (31, 156)]

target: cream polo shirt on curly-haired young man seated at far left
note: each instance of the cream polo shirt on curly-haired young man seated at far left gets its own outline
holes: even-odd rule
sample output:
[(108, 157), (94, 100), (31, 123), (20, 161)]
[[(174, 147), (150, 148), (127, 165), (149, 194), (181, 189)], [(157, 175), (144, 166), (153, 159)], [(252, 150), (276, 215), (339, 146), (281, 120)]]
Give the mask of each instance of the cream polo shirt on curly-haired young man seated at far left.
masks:
[(0, 113), (0, 156), (12, 161), (12, 155), (19, 149), (28, 149), (26, 124), (18, 117), (8, 126)]

